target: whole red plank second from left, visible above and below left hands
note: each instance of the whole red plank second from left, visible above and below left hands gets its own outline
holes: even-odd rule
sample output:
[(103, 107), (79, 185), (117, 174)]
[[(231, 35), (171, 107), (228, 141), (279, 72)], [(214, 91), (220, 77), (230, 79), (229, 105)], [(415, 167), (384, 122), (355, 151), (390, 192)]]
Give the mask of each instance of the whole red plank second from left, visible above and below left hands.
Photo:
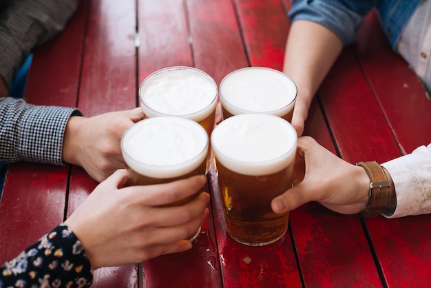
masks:
[[(85, 116), (136, 107), (136, 5), (90, 1), (78, 108)], [(96, 187), (81, 167), (72, 167), (67, 215)], [(138, 267), (94, 271), (93, 287), (138, 287)]]

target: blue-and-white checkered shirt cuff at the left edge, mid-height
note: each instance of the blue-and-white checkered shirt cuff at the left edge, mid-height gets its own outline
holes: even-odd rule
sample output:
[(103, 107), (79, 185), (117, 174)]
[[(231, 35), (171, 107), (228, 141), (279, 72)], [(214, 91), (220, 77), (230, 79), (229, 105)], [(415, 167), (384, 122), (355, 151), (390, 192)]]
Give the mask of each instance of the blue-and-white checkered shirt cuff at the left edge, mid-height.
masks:
[(72, 115), (82, 114), (74, 108), (0, 98), (0, 162), (63, 165), (63, 134)]

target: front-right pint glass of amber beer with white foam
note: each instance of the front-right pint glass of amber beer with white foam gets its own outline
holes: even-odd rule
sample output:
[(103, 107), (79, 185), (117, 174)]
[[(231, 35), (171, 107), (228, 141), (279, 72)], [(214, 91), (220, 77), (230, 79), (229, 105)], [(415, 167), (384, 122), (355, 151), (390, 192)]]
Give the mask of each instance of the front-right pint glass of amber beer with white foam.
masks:
[(286, 232), (288, 214), (271, 200), (292, 187), (297, 134), (271, 114), (231, 116), (214, 128), (211, 146), (227, 232), (240, 243), (269, 245)]

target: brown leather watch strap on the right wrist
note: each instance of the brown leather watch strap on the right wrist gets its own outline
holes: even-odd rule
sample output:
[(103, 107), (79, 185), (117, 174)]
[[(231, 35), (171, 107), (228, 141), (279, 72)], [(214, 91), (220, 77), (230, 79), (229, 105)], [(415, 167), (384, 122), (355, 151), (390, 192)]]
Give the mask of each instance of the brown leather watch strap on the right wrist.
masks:
[(392, 208), (390, 206), (393, 206), (394, 196), (392, 194), (395, 194), (390, 193), (392, 179), (388, 179), (385, 170), (376, 161), (359, 162), (356, 165), (363, 167), (370, 177), (368, 203), (361, 215), (368, 218), (387, 212)]

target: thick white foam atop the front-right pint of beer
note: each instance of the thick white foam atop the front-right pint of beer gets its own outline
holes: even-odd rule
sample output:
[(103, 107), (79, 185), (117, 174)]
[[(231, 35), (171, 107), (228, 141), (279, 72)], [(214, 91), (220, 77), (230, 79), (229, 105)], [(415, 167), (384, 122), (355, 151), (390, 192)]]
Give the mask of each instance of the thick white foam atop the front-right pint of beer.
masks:
[(222, 121), (211, 134), (217, 162), (245, 175), (279, 172), (295, 160), (297, 134), (271, 114), (241, 114)]

